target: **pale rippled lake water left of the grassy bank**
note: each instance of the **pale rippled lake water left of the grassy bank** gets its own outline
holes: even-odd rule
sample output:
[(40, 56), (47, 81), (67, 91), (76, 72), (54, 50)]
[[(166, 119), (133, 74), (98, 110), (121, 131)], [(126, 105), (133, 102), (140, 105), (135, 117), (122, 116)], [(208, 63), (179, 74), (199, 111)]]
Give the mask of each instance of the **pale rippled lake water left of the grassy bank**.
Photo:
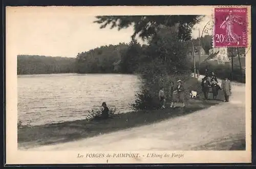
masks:
[(85, 119), (102, 102), (131, 111), (140, 81), (135, 75), (18, 75), (18, 120), (44, 125)]

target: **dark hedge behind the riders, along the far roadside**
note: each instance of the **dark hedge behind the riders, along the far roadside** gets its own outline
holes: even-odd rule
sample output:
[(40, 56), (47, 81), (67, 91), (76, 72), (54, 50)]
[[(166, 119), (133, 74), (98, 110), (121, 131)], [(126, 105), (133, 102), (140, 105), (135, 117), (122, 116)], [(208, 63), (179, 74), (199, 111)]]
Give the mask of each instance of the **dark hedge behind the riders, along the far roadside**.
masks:
[(231, 71), (231, 65), (225, 64), (225, 65), (218, 65), (218, 64), (208, 64), (204, 63), (200, 65), (200, 74), (205, 74), (205, 69), (208, 68), (208, 71), (214, 71), (217, 78), (225, 79), (228, 77), (232, 81), (238, 81), (241, 83), (245, 83), (245, 71), (243, 70), (241, 73), (240, 67), (234, 66), (233, 67), (233, 78), (232, 78), (232, 71)]

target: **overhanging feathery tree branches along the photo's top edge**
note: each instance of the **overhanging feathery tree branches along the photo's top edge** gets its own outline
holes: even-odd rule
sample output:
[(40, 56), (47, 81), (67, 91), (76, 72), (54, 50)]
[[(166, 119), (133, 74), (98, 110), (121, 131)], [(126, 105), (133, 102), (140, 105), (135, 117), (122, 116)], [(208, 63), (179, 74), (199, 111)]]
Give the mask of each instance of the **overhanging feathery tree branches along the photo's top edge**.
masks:
[(96, 16), (94, 21), (100, 24), (100, 28), (118, 28), (118, 30), (134, 27), (132, 37), (138, 35), (143, 40), (155, 36), (161, 25), (173, 27), (178, 23), (178, 38), (189, 40), (191, 29), (203, 16), (200, 15), (147, 15), (147, 16)]

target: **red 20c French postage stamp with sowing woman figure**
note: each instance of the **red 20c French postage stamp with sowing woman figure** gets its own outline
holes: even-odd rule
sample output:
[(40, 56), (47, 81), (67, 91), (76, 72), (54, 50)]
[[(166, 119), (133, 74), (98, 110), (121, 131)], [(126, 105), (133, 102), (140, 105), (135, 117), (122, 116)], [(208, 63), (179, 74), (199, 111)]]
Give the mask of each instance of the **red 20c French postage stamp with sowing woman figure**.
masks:
[(214, 46), (247, 47), (247, 8), (215, 8)]

